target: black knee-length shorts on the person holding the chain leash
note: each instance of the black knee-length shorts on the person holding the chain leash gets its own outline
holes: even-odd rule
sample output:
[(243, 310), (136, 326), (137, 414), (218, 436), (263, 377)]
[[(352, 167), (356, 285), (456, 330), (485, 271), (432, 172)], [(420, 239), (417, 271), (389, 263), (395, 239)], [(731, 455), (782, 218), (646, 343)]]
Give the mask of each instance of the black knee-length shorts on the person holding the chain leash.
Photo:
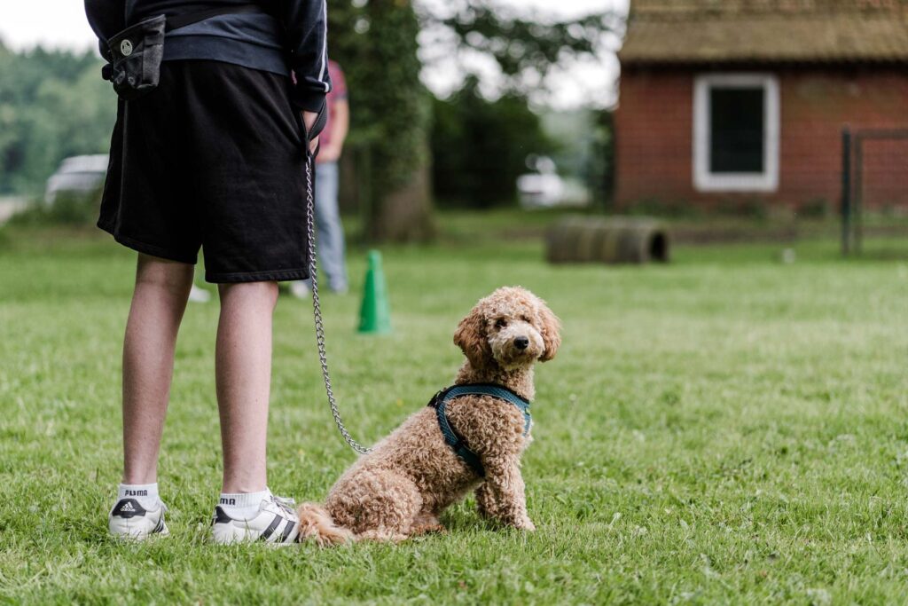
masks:
[(309, 277), (305, 149), (290, 79), (217, 61), (165, 61), (120, 102), (98, 226), (212, 283)]

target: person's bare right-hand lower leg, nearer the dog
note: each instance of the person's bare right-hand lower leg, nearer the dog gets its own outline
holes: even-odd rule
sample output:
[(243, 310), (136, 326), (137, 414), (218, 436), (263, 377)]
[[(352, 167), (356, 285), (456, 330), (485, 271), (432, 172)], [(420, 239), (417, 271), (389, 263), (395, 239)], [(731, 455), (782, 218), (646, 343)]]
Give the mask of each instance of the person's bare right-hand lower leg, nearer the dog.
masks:
[(271, 392), (271, 314), (274, 282), (221, 284), (215, 373), (223, 492), (265, 489), (265, 441)]

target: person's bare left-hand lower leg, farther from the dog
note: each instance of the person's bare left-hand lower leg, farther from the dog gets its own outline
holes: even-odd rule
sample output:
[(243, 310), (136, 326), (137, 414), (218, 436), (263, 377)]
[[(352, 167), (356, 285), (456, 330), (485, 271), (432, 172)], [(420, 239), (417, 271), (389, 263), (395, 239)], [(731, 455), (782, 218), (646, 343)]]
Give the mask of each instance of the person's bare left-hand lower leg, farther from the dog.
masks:
[(157, 482), (176, 335), (192, 265), (139, 254), (123, 342), (123, 483)]

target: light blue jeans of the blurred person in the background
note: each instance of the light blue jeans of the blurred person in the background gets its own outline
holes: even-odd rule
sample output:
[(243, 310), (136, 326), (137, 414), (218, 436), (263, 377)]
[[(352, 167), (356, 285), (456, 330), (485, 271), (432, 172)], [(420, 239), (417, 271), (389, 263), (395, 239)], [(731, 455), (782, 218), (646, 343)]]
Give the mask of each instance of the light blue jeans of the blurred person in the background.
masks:
[[(315, 229), (319, 268), (328, 276), (328, 288), (347, 290), (347, 265), (344, 262), (343, 226), (338, 209), (338, 164), (315, 164)], [(311, 286), (311, 280), (305, 284)]]

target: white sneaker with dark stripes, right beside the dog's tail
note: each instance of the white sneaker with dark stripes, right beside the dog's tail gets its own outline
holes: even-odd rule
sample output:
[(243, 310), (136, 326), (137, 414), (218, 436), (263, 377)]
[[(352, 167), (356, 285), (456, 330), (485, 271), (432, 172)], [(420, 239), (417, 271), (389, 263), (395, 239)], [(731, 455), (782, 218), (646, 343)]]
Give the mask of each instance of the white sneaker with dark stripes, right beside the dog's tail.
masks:
[(251, 520), (232, 518), (221, 505), (214, 508), (212, 541), (222, 545), (244, 541), (288, 544), (300, 534), (300, 517), (292, 499), (271, 495), (262, 499), (259, 512)]

